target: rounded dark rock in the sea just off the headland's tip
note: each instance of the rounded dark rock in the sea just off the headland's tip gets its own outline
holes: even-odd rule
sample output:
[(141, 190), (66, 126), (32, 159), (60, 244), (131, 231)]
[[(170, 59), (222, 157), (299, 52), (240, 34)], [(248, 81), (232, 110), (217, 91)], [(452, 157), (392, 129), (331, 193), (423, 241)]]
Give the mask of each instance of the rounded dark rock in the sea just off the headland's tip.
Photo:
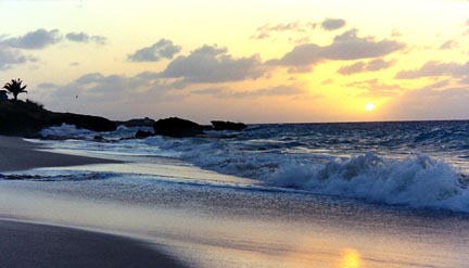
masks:
[(204, 135), (203, 126), (178, 117), (160, 119), (155, 122), (153, 128), (155, 135), (168, 136), (174, 138), (195, 137)]

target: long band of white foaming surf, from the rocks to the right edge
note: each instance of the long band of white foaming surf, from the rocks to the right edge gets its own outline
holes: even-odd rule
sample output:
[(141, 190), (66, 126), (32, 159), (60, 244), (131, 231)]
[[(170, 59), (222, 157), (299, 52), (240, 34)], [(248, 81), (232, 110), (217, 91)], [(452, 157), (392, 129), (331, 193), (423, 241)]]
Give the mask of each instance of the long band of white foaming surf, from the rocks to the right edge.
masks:
[[(64, 128), (67, 135), (73, 130), (68, 126), (61, 129)], [(97, 146), (81, 143), (90, 150)], [(99, 150), (179, 157), (205, 169), (261, 180), (272, 187), (469, 213), (469, 191), (461, 182), (461, 173), (424, 154), (400, 159), (373, 153), (338, 157), (327, 153), (290, 153), (281, 148), (256, 151), (237, 140), (163, 137), (100, 144)]]

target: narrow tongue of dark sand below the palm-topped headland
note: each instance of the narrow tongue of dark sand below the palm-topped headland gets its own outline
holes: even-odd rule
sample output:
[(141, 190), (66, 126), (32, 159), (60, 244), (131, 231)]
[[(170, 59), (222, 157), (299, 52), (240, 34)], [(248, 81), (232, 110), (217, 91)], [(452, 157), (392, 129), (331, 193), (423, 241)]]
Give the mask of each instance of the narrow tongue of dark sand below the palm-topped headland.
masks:
[(17, 137), (0, 136), (0, 173), (40, 167), (115, 164), (118, 161), (39, 151), (38, 144)]

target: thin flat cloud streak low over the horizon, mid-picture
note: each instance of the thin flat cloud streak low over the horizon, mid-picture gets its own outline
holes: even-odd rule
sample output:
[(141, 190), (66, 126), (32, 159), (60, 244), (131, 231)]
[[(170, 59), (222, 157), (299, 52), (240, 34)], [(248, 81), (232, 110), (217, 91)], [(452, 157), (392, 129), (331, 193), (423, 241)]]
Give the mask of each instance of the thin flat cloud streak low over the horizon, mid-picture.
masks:
[(288, 97), (307, 93), (302, 87), (296, 85), (281, 85), (271, 88), (261, 88), (254, 90), (234, 91), (226, 88), (207, 88), (193, 91), (197, 94), (207, 94), (216, 98), (256, 98), (256, 97)]

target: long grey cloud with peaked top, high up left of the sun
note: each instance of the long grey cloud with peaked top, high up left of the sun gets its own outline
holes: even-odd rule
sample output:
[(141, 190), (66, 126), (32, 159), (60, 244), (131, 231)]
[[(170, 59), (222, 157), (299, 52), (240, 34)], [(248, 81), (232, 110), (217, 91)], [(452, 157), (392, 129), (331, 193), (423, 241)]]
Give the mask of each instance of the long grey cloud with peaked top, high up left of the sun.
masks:
[(379, 58), (405, 48), (395, 40), (376, 41), (373, 37), (357, 37), (357, 30), (352, 29), (335, 36), (333, 42), (321, 47), (315, 43), (296, 46), (279, 60), (267, 63), (283, 66), (313, 65), (325, 60), (351, 61), (358, 59)]

